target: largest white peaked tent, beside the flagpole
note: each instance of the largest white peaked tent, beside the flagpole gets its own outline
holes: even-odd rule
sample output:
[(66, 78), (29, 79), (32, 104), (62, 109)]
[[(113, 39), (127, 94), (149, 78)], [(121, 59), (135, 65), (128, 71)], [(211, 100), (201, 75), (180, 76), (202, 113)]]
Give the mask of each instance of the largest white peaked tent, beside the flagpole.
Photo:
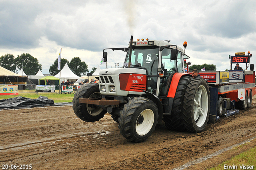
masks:
[(60, 78), (60, 82), (62, 81), (66, 82), (67, 80), (69, 81), (73, 80), (73, 82), (76, 82), (76, 79), (79, 78), (79, 76), (77, 76), (70, 70), (67, 63), (62, 68), (62, 70), (58, 74), (56, 74), (54, 77)]

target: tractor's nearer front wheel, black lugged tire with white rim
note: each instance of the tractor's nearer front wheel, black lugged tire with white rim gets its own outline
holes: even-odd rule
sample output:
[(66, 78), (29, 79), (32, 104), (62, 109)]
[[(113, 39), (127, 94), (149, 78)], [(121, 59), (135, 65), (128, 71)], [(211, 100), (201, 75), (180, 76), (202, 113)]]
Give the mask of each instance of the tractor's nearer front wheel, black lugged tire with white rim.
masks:
[(154, 102), (134, 97), (124, 105), (118, 119), (120, 133), (131, 142), (146, 140), (155, 130), (158, 108)]

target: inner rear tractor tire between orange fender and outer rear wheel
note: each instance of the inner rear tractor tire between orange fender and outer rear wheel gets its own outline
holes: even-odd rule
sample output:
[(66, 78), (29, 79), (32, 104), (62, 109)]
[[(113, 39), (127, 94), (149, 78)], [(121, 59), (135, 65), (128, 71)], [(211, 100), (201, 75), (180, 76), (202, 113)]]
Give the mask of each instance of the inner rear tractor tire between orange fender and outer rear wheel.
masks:
[(171, 115), (164, 115), (163, 120), (165, 122), (165, 126), (171, 130), (186, 130), (186, 127), (184, 126), (182, 119), (182, 102), (184, 99), (186, 86), (191, 79), (192, 77), (188, 76), (183, 76), (180, 78), (172, 104), (172, 113)]

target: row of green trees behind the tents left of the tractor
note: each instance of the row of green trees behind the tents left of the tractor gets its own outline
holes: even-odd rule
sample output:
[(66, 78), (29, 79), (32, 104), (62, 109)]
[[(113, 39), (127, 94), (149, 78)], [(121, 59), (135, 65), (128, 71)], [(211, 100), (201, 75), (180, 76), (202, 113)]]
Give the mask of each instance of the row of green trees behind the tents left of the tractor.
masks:
[[(65, 58), (62, 58), (60, 61), (60, 70), (66, 63), (68, 64), (70, 70), (72, 70), (72, 72), (74, 72), (74, 74), (77, 76), (86, 75), (86, 73), (89, 72), (86, 62), (82, 61), (79, 57), (72, 58), (70, 62)], [(38, 63), (37, 58), (34, 58), (28, 53), (18, 55), (16, 58), (12, 54), (5, 54), (4, 56), (0, 57), (0, 66), (12, 72), (17, 73), (18, 70), (22, 69), (22, 65), (23, 71), (27, 75), (36, 75), (38, 70), (42, 70), (42, 65)], [(52, 64), (52, 66), (49, 68), (49, 73), (50, 75), (54, 76), (58, 74), (60, 70), (58, 70), (58, 58), (56, 58), (54, 64)], [(93, 67), (91, 73), (93, 73), (95, 70), (96, 68)]]

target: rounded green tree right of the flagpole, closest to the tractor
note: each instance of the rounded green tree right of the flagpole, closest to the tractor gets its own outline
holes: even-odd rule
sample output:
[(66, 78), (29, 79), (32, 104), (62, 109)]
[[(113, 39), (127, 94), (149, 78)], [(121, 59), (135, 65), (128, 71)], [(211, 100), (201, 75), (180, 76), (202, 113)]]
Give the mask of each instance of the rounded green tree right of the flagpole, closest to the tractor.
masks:
[(79, 57), (74, 57), (70, 60), (69, 68), (77, 76), (85, 75), (89, 72), (87, 64), (83, 62)]

